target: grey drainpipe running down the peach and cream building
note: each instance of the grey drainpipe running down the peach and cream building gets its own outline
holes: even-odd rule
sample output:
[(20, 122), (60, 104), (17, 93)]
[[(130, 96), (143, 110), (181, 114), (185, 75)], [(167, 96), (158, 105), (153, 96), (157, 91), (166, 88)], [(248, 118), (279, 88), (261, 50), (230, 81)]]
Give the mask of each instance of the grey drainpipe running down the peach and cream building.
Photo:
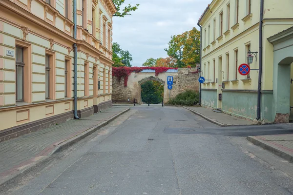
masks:
[[(76, 19), (76, 4), (77, 4), (77, 0), (73, 1), (73, 20), (74, 20), (74, 32), (73, 32), (73, 38), (76, 40), (76, 23), (77, 23), (77, 19)], [(74, 49), (74, 118), (75, 119), (79, 119), (79, 117), (77, 116), (77, 45), (76, 43), (73, 44), (73, 49)]]

